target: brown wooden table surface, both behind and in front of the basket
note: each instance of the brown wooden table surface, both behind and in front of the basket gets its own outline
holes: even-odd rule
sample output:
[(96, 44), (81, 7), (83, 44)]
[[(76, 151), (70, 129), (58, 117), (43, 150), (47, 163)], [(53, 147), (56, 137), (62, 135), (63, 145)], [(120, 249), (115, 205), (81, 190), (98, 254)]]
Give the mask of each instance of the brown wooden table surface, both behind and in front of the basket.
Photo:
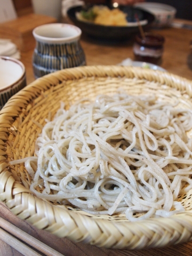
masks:
[[(176, 20), (178, 22), (178, 20)], [(179, 20), (179, 22), (183, 22)], [(185, 21), (186, 22), (186, 21)], [(192, 22), (188, 22), (192, 25)], [(165, 28), (154, 30), (165, 37), (165, 47), (163, 54), (162, 67), (167, 71), (177, 74), (188, 79), (192, 79), (192, 70), (187, 66), (187, 57), (190, 52), (189, 43), (192, 40), (192, 30), (183, 28)], [(81, 44), (85, 51), (87, 65), (116, 65), (126, 58), (133, 59), (132, 45), (133, 40), (130, 39), (126, 42), (101, 42), (94, 41), (89, 37), (82, 36)], [(35, 46), (35, 41), (34, 41)], [(21, 61), (26, 67), (27, 83), (34, 81), (33, 68), (32, 68), (33, 49), (27, 52), (21, 52)], [(37, 237), (42, 242), (57, 249), (65, 256), (181, 256), (192, 255), (192, 242), (185, 244), (174, 245), (163, 249), (146, 249), (141, 251), (129, 250), (110, 250), (99, 249), (92, 245), (84, 245), (81, 243), (73, 243), (66, 238), (58, 238), (51, 234), (45, 233), (42, 230), (36, 230), (34, 227), (28, 225), (25, 221), (19, 220), (13, 216), (9, 211), (1, 207), (0, 215), (4, 218), (11, 220), (15, 226), (23, 230), (28, 230), (28, 233)], [(1, 256), (21, 256), (17, 250), (5, 242), (0, 241)], [(27, 256), (27, 255), (25, 255)]]

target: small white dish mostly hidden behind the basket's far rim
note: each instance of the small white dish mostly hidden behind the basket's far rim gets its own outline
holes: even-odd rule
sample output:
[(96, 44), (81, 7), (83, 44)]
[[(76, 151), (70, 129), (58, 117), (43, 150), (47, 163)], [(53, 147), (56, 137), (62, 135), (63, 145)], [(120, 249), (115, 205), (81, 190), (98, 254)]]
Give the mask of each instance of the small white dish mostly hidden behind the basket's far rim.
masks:
[(132, 67), (141, 67), (141, 68), (149, 68), (153, 70), (160, 70), (166, 71), (164, 68), (154, 65), (149, 62), (143, 61), (132, 61), (130, 58), (123, 60), (121, 63), (118, 64), (119, 66), (132, 66)]

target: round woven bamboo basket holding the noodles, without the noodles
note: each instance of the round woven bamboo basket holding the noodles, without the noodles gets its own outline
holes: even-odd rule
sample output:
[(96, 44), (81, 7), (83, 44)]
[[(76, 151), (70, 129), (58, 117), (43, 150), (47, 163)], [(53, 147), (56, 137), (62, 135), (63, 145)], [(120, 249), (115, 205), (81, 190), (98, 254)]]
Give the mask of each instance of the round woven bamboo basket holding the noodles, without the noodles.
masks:
[(30, 193), (31, 177), (23, 164), (9, 162), (33, 156), (45, 118), (84, 97), (114, 94), (157, 94), (192, 109), (192, 82), (161, 71), (119, 66), (87, 66), (60, 70), (15, 94), (0, 113), (0, 199), (11, 212), (38, 229), (75, 242), (114, 249), (162, 247), (192, 238), (192, 191), (178, 198), (186, 211), (170, 218), (129, 222), (123, 214), (92, 216), (71, 206), (46, 202)]

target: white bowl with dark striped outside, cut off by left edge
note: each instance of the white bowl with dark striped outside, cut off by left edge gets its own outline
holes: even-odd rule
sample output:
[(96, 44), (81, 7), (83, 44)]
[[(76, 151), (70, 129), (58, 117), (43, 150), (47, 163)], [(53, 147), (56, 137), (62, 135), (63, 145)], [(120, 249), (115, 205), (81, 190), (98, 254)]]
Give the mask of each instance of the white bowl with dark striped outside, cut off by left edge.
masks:
[(0, 109), (25, 86), (26, 70), (23, 63), (11, 57), (0, 56)]

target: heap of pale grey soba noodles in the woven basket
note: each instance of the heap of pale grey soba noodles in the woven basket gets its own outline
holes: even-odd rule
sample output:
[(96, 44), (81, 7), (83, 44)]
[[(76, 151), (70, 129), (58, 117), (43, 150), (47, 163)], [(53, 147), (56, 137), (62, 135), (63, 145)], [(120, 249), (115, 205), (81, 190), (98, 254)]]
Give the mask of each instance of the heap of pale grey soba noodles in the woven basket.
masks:
[(191, 110), (155, 96), (84, 99), (43, 127), (37, 157), (25, 162), (30, 189), (90, 214), (169, 217), (185, 210), (177, 198), (192, 188), (190, 129)]

